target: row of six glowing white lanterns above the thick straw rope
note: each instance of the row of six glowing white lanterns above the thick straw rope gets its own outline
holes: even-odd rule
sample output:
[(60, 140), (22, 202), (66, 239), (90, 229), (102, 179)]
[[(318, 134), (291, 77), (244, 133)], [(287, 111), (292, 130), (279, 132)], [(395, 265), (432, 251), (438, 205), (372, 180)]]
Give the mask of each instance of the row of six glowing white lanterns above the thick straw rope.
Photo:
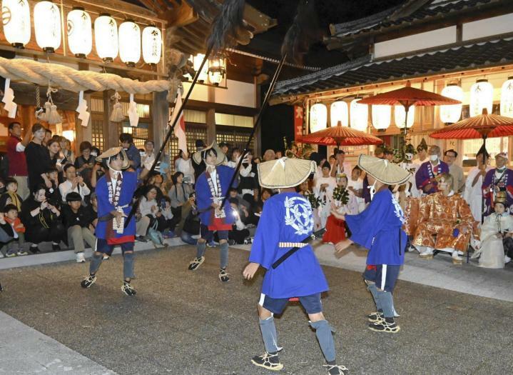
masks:
[[(2, 0), (2, 19), (7, 41), (24, 48), (31, 37), (30, 7), (27, 0)], [(86, 58), (93, 49), (91, 16), (82, 7), (73, 7), (67, 15), (68, 46), (75, 56)], [(61, 11), (51, 1), (39, 1), (34, 6), (36, 43), (46, 52), (61, 46)], [(119, 25), (110, 14), (100, 14), (94, 20), (96, 53), (111, 62), (119, 54), (123, 63), (134, 66), (141, 59), (141, 29), (133, 20)], [(158, 64), (161, 60), (162, 33), (156, 26), (146, 26), (142, 32), (143, 60)]]

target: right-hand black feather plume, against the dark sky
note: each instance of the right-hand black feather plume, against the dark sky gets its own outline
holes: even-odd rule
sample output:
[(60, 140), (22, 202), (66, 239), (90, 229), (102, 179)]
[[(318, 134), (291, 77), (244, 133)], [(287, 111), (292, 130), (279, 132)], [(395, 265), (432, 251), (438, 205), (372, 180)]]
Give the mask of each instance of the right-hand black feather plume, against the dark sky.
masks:
[(321, 38), (322, 31), (314, 1), (300, 0), (293, 24), (281, 45), (282, 56), (287, 56), (286, 60), (293, 64), (303, 64), (303, 56), (308, 53), (310, 46)]

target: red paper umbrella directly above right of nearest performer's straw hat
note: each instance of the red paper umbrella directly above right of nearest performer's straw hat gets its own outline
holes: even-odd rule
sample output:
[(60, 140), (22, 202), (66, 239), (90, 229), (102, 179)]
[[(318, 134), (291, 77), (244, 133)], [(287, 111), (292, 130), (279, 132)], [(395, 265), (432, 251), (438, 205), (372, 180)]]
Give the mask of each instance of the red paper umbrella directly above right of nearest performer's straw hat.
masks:
[(301, 137), (303, 143), (323, 144), (325, 146), (362, 146), (365, 144), (382, 144), (382, 139), (347, 126), (338, 121), (337, 126), (315, 131)]

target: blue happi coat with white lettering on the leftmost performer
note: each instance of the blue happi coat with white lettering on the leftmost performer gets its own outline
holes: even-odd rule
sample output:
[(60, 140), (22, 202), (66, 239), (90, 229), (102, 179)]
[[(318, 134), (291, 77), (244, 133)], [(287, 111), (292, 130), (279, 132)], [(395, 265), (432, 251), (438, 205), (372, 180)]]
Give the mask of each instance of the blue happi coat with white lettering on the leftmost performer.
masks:
[[(96, 198), (98, 199), (98, 218), (106, 216), (116, 208), (108, 201), (108, 186), (107, 179), (110, 179), (111, 175), (107, 172), (96, 184)], [(137, 176), (135, 172), (123, 171), (123, 182), (121, 183), (121, 195), (119, 196), (118, 206), (123, 207), (123, 212), (128, 216), (131, 210), (131, 202), (133, 193), (137, 187)], [(126, 220), (126, 218), (125, 218)], [(99, 221), (96, 226), (96, 237), (98, 239), (106, 239), (106, 229), (108, 225), (112, 225), (112, 221)], [(136, 235), (136, 218), (132, 217), (128, 226), (124, 229), (122, 234), (116, 233), (114, 238), (120, 238), (123, 236), (135, 236)]]

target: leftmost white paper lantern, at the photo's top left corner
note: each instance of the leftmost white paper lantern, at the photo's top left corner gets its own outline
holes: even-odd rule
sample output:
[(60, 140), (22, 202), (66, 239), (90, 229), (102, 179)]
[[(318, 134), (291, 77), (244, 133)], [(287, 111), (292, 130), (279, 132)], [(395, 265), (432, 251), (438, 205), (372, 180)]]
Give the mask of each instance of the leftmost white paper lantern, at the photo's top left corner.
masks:
[(5, 38), (17, 48), (24, 48), (30, 41), (30, 6), (26, 0), (2, 0), (2, 21)]

